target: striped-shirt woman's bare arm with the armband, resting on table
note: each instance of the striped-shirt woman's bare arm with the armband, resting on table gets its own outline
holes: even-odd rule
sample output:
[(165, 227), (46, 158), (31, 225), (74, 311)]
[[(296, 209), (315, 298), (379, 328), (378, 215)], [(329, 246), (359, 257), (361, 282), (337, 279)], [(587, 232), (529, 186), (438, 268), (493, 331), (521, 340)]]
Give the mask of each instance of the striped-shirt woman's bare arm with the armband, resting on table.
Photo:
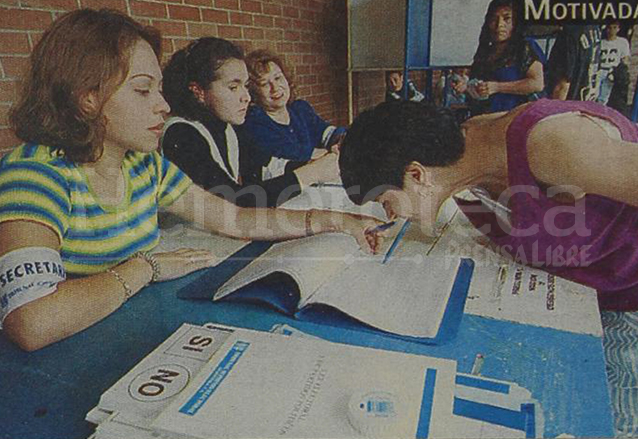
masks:
[[(0, 224), (0, 256), (23, 247), (60, 248), (57, 235), (28, 221)], [(133, 292), (151, 278), (143, 259), (131, 259), (116, 269)], [(124, 301), (122, 284), (110, 273), (67, 280), (57, 291), (13, 310), (3, 323), (4, 333), (20, 348), (34, 351), (73, 335), (111, 314)]]

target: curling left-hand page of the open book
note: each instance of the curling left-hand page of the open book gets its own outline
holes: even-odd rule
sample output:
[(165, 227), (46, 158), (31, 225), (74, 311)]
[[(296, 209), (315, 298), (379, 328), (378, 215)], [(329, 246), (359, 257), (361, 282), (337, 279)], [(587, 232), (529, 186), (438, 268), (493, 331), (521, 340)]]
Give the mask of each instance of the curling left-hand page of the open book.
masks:
[(353, 237), (341, 233), (277, 243), (222, 285), (213, 300), (277, 271), (290, 275), (297, 282), (303, 302), (321, 284), (343, 270), (345, 261), (353, 255), (363, 253)]

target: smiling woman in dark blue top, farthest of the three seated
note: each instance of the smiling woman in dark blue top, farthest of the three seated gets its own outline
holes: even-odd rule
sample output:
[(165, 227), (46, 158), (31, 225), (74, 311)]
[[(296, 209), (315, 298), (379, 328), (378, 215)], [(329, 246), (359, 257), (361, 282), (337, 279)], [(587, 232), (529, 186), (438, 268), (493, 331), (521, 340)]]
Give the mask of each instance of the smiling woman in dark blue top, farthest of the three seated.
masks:
[[(246, 57), (250, 75), (251, 105), (244, 127), (252, 133), (257, 146), (268, 156), (271, 175), (281, 175), (300, 162), (312, 158), (325, 162), (323, 179), (339, 178), (338, 144), (345, 128), (323, 120), (312, 106), (295, 98), (292, 76), (281, 58), (268, 50), (255, 50)], [(329, 151), (333, 151), (330, 153)]]

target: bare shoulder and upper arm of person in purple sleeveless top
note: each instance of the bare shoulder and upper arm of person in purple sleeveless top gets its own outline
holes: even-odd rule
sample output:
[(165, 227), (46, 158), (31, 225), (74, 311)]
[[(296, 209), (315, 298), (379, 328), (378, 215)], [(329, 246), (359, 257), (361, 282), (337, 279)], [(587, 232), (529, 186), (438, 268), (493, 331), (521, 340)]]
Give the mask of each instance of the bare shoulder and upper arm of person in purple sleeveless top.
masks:
[(573, 115), (539, 123), (528, 145), (539, 180), (638, 206), (638, 144), (612, 139), (595, 121)]

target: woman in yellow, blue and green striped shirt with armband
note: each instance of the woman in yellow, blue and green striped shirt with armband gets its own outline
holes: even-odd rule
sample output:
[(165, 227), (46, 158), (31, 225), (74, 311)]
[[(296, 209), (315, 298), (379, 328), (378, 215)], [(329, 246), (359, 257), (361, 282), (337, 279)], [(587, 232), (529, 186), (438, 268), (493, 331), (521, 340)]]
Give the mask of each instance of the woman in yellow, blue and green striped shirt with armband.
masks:
[(160, 43), (125, 15), (85, 9), (56, 20), (33, 50), (11, 114), (27, 143), (0, 162), (0, 322), (23, 349), (69, 337), (148, 283), (215, 261), (190, 249), (138, 253), (159, 241), (160, 207), (237, 238), (341, 231), (376, 245), (365, 233), (376, 221), (240, 208), (163, 159)]

